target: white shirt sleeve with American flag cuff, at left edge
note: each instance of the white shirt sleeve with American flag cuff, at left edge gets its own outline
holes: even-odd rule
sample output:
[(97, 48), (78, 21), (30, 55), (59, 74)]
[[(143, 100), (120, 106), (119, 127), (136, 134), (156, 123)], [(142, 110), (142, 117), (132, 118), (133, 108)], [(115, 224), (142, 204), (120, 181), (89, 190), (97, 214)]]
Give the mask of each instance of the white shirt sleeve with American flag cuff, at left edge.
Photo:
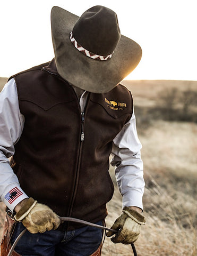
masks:
[(28, 197), (8, 160), (14, 155), (14, 145), (20, 139), (23, 126), (24, 116), (19, 110), (16, 83), (12, 78), (0, 93), (0, 199), (11, 211)]

